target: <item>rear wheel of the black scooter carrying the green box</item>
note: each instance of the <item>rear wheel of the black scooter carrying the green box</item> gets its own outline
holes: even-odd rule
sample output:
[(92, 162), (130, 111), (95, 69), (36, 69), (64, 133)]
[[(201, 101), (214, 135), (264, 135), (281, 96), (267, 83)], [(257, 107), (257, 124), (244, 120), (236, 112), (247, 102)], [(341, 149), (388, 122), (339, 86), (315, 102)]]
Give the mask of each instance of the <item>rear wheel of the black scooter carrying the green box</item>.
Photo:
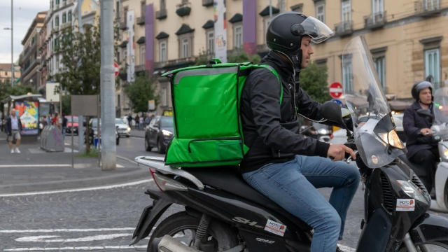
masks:
[[(147, 251), (158, 252), (153, 251), (153, 248), (151, 248), (151, 243), (153, 242), (153, 239), (163, 237), (165, 235), (170, 235), (188, 246), (193, 246), (193, 239), (196, 235), (196, 230), (199, 223), (199, 218), (195, 218), (190, 214), (187, 214), (186, 211), (181, 211), (173, 214), (172, 216), (168, 216), (158, 225), (157, 228), (155, 228), (153, 235), (151, 235), (151, 239), (149, 239)], [(206, 234), (207, 246), (214, 246), (214, 251), (225, 251), (226, 249), (238, 245), (236, 233), (231, 230), (217, 230), (218, 228), (224, 228), (223, 223), (220, 222), (217, 224), (216, 220), (212, 220)], [(215, 234), (225, 234), (225, 237), (216, 239)], [(221, 242), (218, 242), (218, 240)]]

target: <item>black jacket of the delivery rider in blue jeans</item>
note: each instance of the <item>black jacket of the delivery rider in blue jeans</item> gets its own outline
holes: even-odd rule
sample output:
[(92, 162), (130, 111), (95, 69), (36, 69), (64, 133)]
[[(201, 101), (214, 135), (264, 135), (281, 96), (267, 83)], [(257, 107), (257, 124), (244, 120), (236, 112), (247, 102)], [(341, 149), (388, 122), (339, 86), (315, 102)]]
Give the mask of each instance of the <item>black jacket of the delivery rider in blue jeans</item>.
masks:
[(241, 98), (241, 121), (244, 143), (250, 149), (241, 162), (241, 172), (251, 172), (272, 162), (293, 160), (297, 154), (326, 157), (330, 144), (300, 136), (294, 109), (297, 106), (298, 113), (321, 120), (322, 104), (298, 86), (294, 101), (293, 66), (275, 52), (269, 52), (260, 64), (272, 66), (279, 74), (283, 102), (279, 104), (281, 87), (274, 73), (255, 69), (249, 74)]

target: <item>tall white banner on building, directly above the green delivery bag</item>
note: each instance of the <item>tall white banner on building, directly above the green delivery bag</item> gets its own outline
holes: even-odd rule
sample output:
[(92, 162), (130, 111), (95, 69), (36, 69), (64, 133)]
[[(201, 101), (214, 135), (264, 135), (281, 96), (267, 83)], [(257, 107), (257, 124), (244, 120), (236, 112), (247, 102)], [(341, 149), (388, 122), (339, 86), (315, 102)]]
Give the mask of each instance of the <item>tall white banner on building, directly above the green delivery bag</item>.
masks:
[(227, 62), (227, 22), (225, 21), (225, 10), (224, 0), (214, 1), (215, 57), (223, 63)]

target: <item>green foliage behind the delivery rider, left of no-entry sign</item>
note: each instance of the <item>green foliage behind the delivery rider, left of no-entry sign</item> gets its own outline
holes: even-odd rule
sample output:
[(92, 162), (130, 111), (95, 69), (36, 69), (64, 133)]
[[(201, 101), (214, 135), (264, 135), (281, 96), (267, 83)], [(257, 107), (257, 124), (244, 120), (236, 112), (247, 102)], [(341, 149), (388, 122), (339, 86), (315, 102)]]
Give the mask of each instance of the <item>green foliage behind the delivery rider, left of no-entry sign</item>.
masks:
[(326, 102), (331, 99), (328, 93), (327, 66), (317, 66), (310, 62), (306, 69), (300, 72), (300, 87), (317, 102)]

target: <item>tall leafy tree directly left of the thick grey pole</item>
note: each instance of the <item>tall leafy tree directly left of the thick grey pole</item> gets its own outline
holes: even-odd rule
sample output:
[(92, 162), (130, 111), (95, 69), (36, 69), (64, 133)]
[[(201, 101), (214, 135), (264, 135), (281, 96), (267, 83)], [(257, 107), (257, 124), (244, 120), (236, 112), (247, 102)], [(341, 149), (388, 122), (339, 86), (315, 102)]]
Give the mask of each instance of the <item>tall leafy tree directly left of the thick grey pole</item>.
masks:
[(84, 33), (69, 27), (59, 36), (59, 46), (55, 50), (59, 50), (62, 67), (53, 77), (70, 94), (99, 94), (101, 67), (99, 31), (99, 24), (97, 27), (87, 27)]

